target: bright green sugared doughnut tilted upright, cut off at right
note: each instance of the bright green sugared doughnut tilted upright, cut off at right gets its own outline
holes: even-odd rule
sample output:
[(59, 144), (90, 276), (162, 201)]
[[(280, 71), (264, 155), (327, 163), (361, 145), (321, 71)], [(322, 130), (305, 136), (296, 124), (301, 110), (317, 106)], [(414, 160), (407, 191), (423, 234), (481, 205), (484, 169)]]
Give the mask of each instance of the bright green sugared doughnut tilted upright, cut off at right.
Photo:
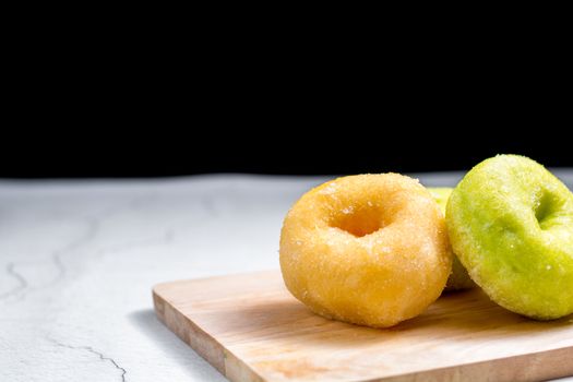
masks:
[(537, 320), (573, 313), (573, 194), (524, 156), (474, 167), (452, 192), (454, 252), (498, 305)]

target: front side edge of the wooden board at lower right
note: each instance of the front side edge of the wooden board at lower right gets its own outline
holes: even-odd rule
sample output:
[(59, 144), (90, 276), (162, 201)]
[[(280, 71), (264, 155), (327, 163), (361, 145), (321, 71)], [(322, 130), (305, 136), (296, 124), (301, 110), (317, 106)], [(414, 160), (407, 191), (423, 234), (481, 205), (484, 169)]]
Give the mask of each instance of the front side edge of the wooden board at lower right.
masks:
[[(573, 347), (462, 363), (449, 368), (429, 369), (408, 374), (373, 379), (368, 382), (417, 381), (546, 381), (573, 375)], [(508, 367), (513, 363), (513, 367)], [(549, 363), (550, 367), (540, 367)]]

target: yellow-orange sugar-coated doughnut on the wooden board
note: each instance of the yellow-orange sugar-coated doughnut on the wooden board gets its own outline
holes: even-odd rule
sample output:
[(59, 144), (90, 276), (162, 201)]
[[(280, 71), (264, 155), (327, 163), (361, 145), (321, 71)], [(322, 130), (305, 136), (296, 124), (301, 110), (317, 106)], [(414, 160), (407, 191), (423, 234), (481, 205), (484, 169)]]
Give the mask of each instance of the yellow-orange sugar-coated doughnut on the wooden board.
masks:
[(452, 270), (444, 217), (397, 174), (338, 178), (307, 192), (280, 232), (290, 293), (315, 313), (386, 327), (421, 313)]

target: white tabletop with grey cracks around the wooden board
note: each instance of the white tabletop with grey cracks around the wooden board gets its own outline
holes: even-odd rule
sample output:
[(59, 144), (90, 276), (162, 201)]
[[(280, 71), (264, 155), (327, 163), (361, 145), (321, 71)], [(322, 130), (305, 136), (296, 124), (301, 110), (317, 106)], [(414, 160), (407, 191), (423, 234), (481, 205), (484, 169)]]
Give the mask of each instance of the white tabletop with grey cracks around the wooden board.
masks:
[(0, 381), (224, 381), (157, 321), (152, 286), (277, 268), (285, 213), (325, 179), (0, 180)]

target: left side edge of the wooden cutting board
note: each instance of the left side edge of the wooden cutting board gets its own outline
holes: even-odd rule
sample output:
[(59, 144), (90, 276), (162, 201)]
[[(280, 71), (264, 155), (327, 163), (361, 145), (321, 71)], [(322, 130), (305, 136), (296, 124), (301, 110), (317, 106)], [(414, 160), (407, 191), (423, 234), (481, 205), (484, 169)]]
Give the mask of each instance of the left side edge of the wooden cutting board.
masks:
[[(208, 335), (208, 333), (199, 327), (193, 321), (189, 320), (167, 301), (158, 291), (159, 287), (166, 284), (170, 283), (158, 284), (152, 289), (155, 314), (159, 321), (230, 381), (264, 381), (264, 379), (247, 363), (225, 349), (225, 347)], [(188, 327), (178, 325), (178, 322), (187, 322)]]

